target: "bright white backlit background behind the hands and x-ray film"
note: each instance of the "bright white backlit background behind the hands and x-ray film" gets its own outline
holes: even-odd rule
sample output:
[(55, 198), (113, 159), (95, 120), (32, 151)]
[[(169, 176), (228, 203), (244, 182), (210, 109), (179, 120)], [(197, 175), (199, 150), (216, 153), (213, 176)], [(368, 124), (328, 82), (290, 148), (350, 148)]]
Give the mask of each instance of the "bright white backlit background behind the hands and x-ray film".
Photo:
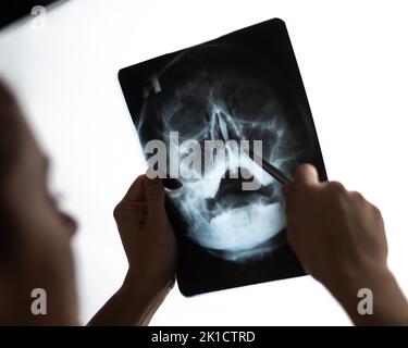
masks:
[[(73, 0), (0, 33), (0, 76), (17, 92), (53, 161), (52, 187), (79, 222), (74, 241), (85, 323), (121, 285), (112, 209), (145, 171), (119, 84), (126, 65), (272, 17), (286, 22), (330, 178), (383, 212), (390, 265), (408, 291), (406, 1)], [(184, 298), (163, 325), (349, 325), (311, 277)]]

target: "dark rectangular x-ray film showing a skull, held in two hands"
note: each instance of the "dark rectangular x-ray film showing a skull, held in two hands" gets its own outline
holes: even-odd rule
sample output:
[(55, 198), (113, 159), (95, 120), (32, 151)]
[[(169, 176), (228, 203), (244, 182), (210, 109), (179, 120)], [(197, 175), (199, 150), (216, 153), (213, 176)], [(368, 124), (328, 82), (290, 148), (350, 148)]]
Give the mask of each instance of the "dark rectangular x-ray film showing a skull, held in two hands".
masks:
[(288, 177), (312, 163), (326, 179), (284, 22), (125, 67), (119, 77), (146, 160), (164, 151), (165, 175), (183, 183), (166, 190), (181, 291), (304, 275), (285, 238), (282, 186), (243, 151), (258, 146)]

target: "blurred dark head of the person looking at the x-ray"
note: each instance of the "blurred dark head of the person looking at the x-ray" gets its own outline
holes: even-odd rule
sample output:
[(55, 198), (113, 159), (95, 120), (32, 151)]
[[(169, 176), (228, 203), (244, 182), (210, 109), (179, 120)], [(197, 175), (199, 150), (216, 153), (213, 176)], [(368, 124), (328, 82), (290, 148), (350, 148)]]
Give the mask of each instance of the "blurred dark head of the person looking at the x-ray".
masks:
[[(0, 82), (0, 324), (76, 322), (70, 239), (76, 229), (47, 187), (48, 160)], [(30, 312), (35, 288), (47, 315)]]

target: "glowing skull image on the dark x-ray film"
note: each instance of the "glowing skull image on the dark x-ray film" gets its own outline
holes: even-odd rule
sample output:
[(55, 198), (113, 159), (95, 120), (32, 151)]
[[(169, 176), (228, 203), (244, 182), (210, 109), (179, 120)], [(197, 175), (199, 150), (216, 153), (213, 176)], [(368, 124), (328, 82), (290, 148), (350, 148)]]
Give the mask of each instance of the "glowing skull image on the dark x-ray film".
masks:
[[(290, 174), (305, 147), (287, 121), (277, 89), (282, 83), (273, 66), (236, 47), (207, 45), (183, 51), (145, 85), (136, 124), (141, 142), (163, 139), (183, 159), (188, 149), (170, 137), (178, 132), (180, 142), (198, 142), (205, 159), (209, 157), (206, 140), (262, 140), (263, 158)], [(182, 176), (183, 188), (168, 195), (194, 243), (227, 261), (257, 260), (283, 240), (281, 186), (267, 173), (254, 171), (254, 162), (243, 152), (226, 147), (225, 154), (225, 162), (214, 156), (210, 169), (203, 166), (188, 179)], [(178, 164), (178, 158), (168, 161), (169, 167)], [(180, 167), (183, 173), (194, 170)], [(260, 188), (243, 190), (242, 183), (250, 175)]]

